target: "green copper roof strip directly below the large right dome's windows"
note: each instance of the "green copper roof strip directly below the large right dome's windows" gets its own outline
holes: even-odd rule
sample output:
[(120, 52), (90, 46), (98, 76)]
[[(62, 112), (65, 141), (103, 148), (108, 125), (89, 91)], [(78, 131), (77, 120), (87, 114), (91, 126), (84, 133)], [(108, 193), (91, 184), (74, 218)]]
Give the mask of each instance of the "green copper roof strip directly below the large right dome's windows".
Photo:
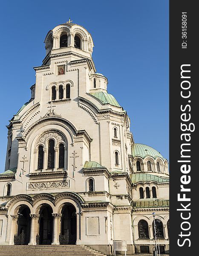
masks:
[(144, 181), (155, 181), (157, 183), (165, 183), (169, 182), (169, 178), (163, 178), (152, 174), (146, 174), (146, 173), (136, 173), (132, 174), (131, 181), (133, 184), (136, 184), (138, 182), (144, 182)]

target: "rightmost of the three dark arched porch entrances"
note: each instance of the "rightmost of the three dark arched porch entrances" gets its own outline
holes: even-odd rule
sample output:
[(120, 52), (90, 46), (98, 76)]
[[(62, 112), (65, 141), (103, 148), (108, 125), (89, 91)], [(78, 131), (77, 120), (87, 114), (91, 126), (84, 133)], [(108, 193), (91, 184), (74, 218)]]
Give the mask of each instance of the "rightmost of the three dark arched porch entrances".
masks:
[(72, 204), (62, 208), (60, 244), (76, 244), (77, 241), (77, 215)]

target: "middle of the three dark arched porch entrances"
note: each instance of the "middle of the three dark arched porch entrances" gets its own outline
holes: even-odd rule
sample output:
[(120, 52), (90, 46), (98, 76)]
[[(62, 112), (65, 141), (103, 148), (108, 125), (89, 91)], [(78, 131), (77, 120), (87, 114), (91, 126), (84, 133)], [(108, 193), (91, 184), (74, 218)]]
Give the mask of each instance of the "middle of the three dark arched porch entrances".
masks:
[(43, 205), (39, 214), (39, 244), (51, 244), (53, 229), (52, 208), (49, 205)]

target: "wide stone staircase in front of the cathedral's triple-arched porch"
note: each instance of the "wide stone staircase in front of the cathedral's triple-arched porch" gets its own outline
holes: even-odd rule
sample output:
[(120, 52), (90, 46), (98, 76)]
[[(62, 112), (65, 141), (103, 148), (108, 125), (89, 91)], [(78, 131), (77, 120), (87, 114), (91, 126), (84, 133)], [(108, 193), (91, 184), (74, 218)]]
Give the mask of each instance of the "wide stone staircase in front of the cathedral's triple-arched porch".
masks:
[(106, 256), (85, 245), (0, 245), (0, 256)]

